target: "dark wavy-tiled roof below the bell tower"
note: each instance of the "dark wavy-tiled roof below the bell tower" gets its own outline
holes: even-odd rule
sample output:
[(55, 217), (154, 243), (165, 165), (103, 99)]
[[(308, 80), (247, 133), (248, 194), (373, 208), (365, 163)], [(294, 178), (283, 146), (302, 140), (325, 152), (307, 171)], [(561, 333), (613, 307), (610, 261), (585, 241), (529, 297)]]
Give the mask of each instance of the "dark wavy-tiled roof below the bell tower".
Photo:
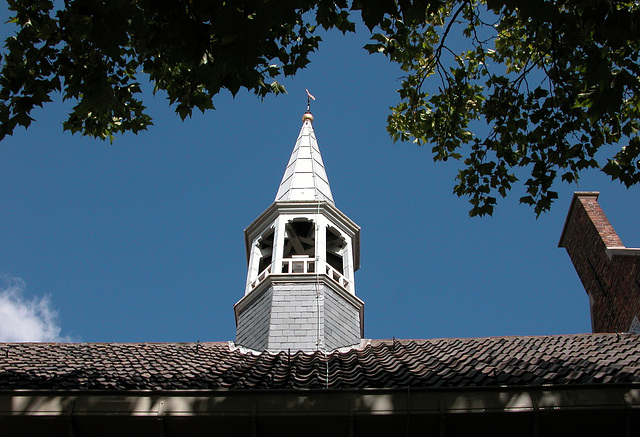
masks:
[(260, 355), (227, 343), (0, 343), (0, 390), (491, 387), (640, 383), (640, 335), (373, 340)]

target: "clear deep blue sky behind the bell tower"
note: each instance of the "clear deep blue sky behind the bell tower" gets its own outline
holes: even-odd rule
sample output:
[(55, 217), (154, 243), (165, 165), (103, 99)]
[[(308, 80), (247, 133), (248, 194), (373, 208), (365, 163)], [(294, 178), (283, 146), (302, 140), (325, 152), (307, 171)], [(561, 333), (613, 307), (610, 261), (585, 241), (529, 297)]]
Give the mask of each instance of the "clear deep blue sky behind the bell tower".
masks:
[(638, 188), (591, 172), (559, 185), (538, 219), (518, 204), (521, 187), (493, 217), (469, 218), (452, 194), (456, 163), (391, 142), (400, 72), (366, 54), (363, 35), (325, 36), (310, 66), (282, 81), (288, 94), (264, 102), (222, 95), (216, 111), (181, 122), (149, 95), (155, 125), (113, 144), (63, 132), (67, 104), (39, 111), (0, 142), (0, 296), (41, 318), (57, 312), (63, 339), (233, 340), (243, 229), (273, 202), (309, 88), (336, 206), (362, 227), (367, 338), (589, 332), (587, 296), (557, 247), (571, 193), (600, 191), (633, 247)]

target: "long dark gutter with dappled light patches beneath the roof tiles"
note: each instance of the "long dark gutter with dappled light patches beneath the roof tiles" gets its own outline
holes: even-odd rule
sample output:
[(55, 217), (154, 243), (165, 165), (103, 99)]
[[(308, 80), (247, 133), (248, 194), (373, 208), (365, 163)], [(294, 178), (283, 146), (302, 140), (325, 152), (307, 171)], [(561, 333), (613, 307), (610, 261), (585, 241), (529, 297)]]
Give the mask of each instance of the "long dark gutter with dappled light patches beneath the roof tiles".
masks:
[(640, 409), (640, 384), (304, 390), (2, 390), (3, 416), (277, 417)]

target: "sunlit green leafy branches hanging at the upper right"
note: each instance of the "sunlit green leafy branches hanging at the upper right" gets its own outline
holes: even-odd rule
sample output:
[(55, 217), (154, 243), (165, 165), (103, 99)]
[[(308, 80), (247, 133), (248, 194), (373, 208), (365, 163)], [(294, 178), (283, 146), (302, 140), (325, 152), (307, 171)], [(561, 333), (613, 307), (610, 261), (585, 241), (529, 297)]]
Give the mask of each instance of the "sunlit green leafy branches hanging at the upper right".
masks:
[[(434, 144), (436, 161), (462, 160), (454, 192), (470, 198), (470, 215), (491, 214), (525, 172), (520, 201), (539, 215), (556, 179), (599, 168), (598, 152), (613, 179), (640, 181), (637, 3), (449, 2), (423, 23), (382, 30), (367, 48), (407, 72), (388, 130)], [(457, 51), (454, 31), (467, 42)], [(429, 76), (438, 92), (425, 89)]]

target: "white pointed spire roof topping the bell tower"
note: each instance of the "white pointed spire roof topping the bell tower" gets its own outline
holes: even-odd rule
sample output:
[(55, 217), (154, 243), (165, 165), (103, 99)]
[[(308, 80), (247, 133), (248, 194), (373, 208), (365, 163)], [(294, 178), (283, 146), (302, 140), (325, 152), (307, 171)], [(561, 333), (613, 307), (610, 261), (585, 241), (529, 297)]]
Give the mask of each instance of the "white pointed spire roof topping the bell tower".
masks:
[(302, 129), (280, 182), (277, 201), (325, 201), (333, 203), (327, 172), (313, 132), (313, 116), (302, 116)]

